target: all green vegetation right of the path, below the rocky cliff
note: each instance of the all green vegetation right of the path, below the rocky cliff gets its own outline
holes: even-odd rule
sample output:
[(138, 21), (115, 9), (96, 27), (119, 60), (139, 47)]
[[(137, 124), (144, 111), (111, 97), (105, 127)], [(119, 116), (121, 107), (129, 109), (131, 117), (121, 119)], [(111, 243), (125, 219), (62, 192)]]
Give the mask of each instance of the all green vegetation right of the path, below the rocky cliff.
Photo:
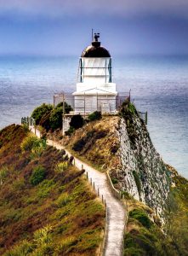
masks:
[(128, 200), (128, 225), (123, 255), (188, 255), (188, 186), (184, 178), (176, 176), (174, 179), (177, 186), (172, 188), (170, 200), (167, 201), (169, 212), (166, 212), (166, 224), (163, 226), (165, 233), (149, 207), (133, 199)]

